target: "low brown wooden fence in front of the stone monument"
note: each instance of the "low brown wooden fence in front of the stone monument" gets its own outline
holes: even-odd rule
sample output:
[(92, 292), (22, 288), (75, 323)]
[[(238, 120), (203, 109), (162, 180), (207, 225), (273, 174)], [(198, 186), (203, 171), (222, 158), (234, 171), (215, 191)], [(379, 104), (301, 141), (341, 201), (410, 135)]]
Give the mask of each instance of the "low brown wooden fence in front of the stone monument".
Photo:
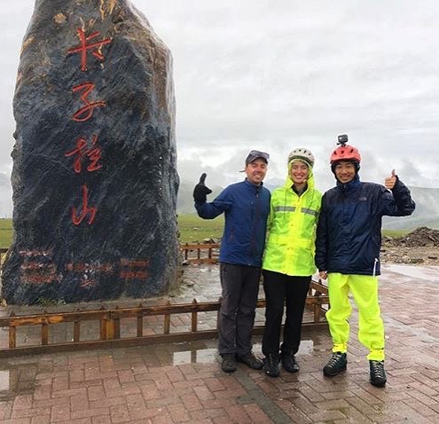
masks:
[[(328, 305), (327, 288), (319, 282), (312, 281), (310, 294), (306, 299), (306, 305), (313, 310), (312, 319), (304, 321), (303, 326), (326, 326), (322, 319)], [(12, 357), (17, 355), (40, 354), (49, 352), (59, 352), (65, 350), (80, 349), (103, 349), (113, 347), (128, 347), (145, 344), (155, 344), (163, 342), (184, 342), (200, 339), (215, 338), (217, 336), (216, 328), (199, 330), (199, 314), (208, 311), (218, 311), (221, 302), (197, 302), (195, 299), (192, 303), (166, 304), (158, 306), (143, 306), (140, 304), (136, 308), (116, 307), (112, 310), (106, 310), (102, 307), (99, 310), (77, 310), (74, 312), (55, 312), (35, 315), (15, 315), (0, 318), (0, 327), (7, 330), (8, 335), (7, 347), (0, 348), (0, 357)], [(259, 300), (257, 308), (264, 308), (265, 301)], [(171, 317), (176, 314), (186, 314), (185, 321), (189, 322), (189, 329), (171, 333)], [(162, 316), (163, 324), (161, 334), (145, 334), (145, 317)], [(128, 319), (131, 329), (130, 334), (122, 334), (122, 320)], [(98, 339), (83, 340), (82, 329), (89, 326), (90, 321), (98, 322)], [(51, 329), (60, 324), (70, 323), (73, 326), (73, 338), (69, 342), (51, 342)], [(17, 330), (21, 326), (39, 326), (39, 337), (29, 344), (18, 345)], [(136, 335), (133, 335), (133, 326)], [(181, 328), (179, 328), (181, 330)], [(262, 334), (263, 326), (255, 326), (255, 334)], [(1, 335), (0, 335), (1, 337)], [(28, 337), (27, 337), (28, 339)], [(0, 341), (1, 342), (1, 341)], [(0, 343), (4, 345), (5, 343)]]

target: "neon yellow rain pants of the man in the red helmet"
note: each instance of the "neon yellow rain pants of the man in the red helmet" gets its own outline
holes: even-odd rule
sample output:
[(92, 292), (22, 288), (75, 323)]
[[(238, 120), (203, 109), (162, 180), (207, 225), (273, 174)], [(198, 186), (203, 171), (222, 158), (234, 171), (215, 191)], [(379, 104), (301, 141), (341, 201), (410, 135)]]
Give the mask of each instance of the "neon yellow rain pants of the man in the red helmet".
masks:
[(384, 360), (384, 326), (378, 303), (378, 277), (369, 275), (328, 275), (330, 309), (326, 312), (333, 338), (333, 352), (345, 353), (349, 341), (349, 316), (352, 307), (349, 291), (358, 308), (358, 340), (369, 349), (367, 359)]

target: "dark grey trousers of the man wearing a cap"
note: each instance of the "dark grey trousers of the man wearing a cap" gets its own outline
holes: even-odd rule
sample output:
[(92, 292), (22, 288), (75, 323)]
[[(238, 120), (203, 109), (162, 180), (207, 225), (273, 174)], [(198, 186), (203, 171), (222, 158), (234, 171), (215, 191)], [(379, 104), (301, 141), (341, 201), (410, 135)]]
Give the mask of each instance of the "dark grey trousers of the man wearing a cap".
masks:
[(222, 301), (218, 317), (218, 352), (243, 357), (252, 350), (252, 331), (261, 268), (221, 263)]

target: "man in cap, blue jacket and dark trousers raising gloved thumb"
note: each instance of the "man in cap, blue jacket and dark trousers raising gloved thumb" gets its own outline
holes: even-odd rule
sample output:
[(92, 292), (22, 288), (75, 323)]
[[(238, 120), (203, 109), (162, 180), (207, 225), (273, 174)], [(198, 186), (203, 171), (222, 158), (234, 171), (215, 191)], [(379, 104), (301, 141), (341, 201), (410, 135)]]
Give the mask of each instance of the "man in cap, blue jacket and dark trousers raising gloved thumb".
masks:
[(268, 153), (248, 153), (247, 178), (226, 187), (211, 203), (207, 202), (211, 190), (204, 185), (206, 174), (193, 191), (201, 218), (225, 215), (219, 258), (222, 301), (218, 317), (218, 351), (225, 373), (236, 371), (237, 360), (253, 369), (263, 367), (252, 351), (252, 330), (270, 212), (270, 192), (263, 187), (268, 160)]

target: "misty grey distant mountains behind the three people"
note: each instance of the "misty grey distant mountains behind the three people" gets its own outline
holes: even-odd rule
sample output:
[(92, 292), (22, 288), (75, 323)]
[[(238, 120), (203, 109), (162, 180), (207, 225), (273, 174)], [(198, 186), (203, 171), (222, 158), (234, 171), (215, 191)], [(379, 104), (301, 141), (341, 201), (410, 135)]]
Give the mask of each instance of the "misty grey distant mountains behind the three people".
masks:
[[(272, 191), (274, 188), (282, 185), (283, 181), (269, 180), (265, 186)], [(223, 187), (210, 187), (213, 192), (208, 196), (214, 200), (215, 197), (223, 190)], [(383, 228), (386, 230), (412, 230), (418, 227), (428, 227), (439, 230), (439, 188), (427, 187), (409, 187), (412, 192), (412, 198), (416, 202), (416, 210), (412, 216), (390, 217), (384, 216)], [(193, 184), (182, 182), (178, 191), (176, 210), (180, 214), (194, 214), (193, 207)]]

